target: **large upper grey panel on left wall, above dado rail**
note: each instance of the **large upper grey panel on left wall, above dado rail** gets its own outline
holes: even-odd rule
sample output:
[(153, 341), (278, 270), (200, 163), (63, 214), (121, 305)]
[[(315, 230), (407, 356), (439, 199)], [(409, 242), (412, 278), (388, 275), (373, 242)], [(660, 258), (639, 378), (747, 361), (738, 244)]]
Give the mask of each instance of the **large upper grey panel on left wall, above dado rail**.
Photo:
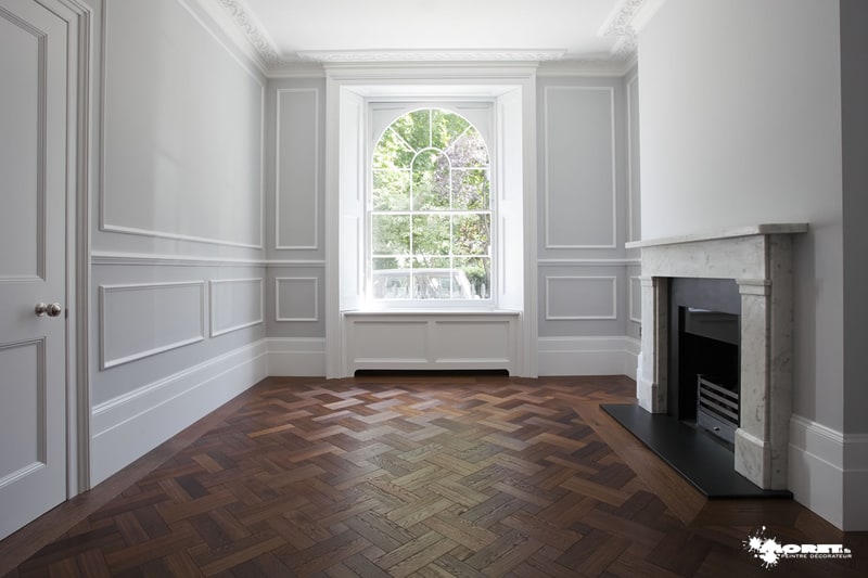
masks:
[(264, 79), (180, 0), (104, 10), (101, 228), (261, 247)]

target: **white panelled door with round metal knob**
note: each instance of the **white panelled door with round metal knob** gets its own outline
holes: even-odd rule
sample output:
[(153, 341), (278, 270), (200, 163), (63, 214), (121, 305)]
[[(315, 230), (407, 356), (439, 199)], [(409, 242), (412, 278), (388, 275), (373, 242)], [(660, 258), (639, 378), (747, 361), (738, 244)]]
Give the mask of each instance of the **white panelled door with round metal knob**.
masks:
[(0, 0), (0, 539), (66, 499), (66, 42)]

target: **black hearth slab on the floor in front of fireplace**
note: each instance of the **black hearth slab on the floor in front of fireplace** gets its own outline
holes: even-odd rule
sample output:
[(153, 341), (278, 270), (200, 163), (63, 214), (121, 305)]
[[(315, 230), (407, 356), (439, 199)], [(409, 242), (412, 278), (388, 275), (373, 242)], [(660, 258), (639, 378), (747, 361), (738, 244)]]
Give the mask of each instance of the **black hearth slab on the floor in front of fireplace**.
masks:
[(787, 490), (761, 489), (736, 472), (731, 450), (671, 415), (633, 403), (601, 408), (709, 499), (793, 497)]

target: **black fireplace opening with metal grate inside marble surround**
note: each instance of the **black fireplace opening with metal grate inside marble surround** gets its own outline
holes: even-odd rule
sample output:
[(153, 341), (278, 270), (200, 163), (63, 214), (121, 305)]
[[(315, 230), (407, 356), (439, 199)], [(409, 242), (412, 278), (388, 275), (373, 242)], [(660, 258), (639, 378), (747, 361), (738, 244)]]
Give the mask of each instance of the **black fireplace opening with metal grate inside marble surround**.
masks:
[(669, 296), (667, 412), (731, 446), (740, 412), (738, 285), (678, 278), (672, 280)]

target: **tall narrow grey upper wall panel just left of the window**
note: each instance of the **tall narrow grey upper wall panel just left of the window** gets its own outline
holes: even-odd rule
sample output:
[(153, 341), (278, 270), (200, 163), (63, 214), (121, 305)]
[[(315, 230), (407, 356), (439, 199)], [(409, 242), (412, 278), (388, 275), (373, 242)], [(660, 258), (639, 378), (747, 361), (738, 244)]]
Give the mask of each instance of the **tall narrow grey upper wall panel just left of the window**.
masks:
[(279, 249), (316, 249), (319, 216), (319, 90), (278, 90)]

